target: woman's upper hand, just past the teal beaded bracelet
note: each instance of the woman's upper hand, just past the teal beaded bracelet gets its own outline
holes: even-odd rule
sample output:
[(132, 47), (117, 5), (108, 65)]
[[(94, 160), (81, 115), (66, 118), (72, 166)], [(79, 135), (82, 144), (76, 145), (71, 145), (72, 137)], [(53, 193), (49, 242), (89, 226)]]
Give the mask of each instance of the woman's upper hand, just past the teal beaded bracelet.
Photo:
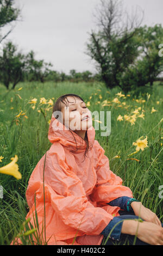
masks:
[(147, 222), (152, 222), (162, 227), (161, 222), (159, 218), (156, 216), (156, 214), (154, 214), (154, 212), (143, 206), (141, 202), (132, 202), (131, 207), (133, 208), (136, 216), (141, 217), (143, 220)]

